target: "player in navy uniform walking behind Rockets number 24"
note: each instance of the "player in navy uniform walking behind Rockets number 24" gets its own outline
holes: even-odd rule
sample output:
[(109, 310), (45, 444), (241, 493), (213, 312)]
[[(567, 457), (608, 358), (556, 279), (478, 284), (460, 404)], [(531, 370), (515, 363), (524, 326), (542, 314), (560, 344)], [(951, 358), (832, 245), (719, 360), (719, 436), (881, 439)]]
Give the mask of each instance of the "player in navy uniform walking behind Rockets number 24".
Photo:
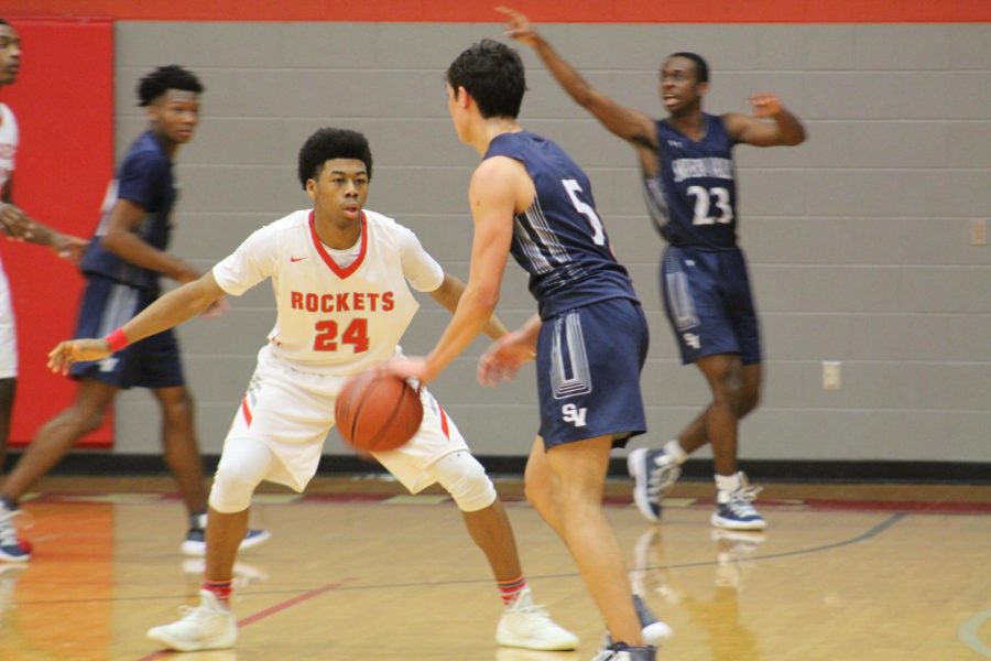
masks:
[[(131, 145), (111, 182), (104, 216), (79, 264), (86, 291), (77, 335), (100, 335), (134, 316), (157, 297), (162, 275), (177, 282), (199, 277), (195, 268), (166, 249), (177, 197), (173, 159), (179, 147), (193, 139), (203, 89), (192, 72), (176, 65), (159, 67), (139, 83), (139, 106), (145, 109), (149, 128)], [(203, 459), (175, 336), (171, 332), (155, 335), (105, 360), (74, 366), (72, 373), (79, 383), (75, 401), (41, 426), (0, 487), (0, 560), (30, 560), (30, 549), (19, 542), (10, 521), (19, 511), (18, 500), (100, 425), (121, 389), (133, 386), (150, 389), (162, 412), (165, 463), (189, 516), (181, 550), (203, 555), (207, 506)], [(249, 531), (242, 546), (258, 545), (268, 538), (266, 531)]]

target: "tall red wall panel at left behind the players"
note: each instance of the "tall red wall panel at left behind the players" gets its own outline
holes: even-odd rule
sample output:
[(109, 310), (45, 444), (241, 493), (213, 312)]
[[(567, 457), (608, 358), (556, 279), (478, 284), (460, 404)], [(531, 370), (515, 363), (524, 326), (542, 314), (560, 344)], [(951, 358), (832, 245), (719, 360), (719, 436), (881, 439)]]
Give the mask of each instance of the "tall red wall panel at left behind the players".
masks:
[[(14, 202), (46, 225), (88, 238), (113, 175), (113, 24), (8, 20), (23, 43), (18, 82), (0, 88), (21, 129)], [(0, 239), (0, 251), (20, 345), (11, 441), (24, 444), (75, 393), (75, 384), (51, 373), (45, 360), (58, 340), (72, 336), (83, 279), (47, 248)], [(85, 443), (112, 441), (108, 421)]]

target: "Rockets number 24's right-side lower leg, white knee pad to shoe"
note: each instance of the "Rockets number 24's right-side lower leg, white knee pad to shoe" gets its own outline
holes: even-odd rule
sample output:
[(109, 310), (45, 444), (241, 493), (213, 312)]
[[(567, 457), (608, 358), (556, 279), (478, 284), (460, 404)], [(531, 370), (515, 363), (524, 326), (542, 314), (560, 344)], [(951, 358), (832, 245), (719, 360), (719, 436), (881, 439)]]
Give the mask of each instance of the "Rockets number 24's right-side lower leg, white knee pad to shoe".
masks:
[(429, 470), (461, 510), (465, 525), (486, 554), (497, 583), (519, 588), (503, 599), (505, 610), (496, 629), (496, 641), (532, 650), (576, 649), (578, 637), (552, 620), (543, 606), (534, 604), (520, 567), (509, 517), (478, 459), (460, 451), (442, 457)]

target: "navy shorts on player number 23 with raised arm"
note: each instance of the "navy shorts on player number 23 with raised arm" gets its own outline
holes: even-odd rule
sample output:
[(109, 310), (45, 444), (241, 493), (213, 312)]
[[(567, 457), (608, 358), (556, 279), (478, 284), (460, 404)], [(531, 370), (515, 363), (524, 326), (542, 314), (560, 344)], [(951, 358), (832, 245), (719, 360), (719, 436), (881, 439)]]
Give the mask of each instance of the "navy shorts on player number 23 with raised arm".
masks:
[(743, 365), (761, 361), (756, 308), (739, 248), (668, 247), (661, 292), (683, 364), (716, 354), (739, 354)]

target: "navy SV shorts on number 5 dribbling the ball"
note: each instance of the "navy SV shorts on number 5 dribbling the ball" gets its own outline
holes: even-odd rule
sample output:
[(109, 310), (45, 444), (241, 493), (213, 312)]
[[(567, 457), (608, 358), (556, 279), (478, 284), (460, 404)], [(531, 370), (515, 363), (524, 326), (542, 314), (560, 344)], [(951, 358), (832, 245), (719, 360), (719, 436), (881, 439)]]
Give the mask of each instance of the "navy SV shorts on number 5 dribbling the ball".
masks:
[(536, 373), (545, 449), (598, 436), (623, 447), (646, 431), (640, 370), (649, 344), (643, 310), (630, 299), (544, 319)]

